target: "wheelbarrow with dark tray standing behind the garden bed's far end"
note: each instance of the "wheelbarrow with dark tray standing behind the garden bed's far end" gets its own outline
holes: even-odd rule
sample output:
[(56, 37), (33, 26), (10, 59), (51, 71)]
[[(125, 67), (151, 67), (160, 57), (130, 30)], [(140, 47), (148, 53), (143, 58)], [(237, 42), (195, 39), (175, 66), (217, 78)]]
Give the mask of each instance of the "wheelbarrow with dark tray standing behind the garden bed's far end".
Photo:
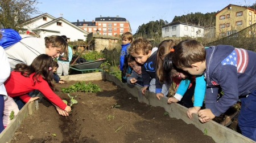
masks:
[(72, 70), (76, 71), (81, 71), (84, 73), (84, 71), (103, 71), (99, 67), (101, 66), (102, 63), (104, 63), (106, 59), (99, 59), (99, 60), (94, 60), (92, 62), (85, 62), (85, 63), (80, 63), (80, 64), (73, 64), (69, 66)]

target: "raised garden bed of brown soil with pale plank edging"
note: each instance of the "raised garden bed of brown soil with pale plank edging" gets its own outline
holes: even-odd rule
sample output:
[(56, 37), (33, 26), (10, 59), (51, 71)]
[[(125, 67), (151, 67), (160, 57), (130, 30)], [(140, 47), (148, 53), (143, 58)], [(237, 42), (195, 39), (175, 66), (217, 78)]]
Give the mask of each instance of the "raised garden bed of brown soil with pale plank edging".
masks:
[[(42, 99), (39, 110), (15, 129), (11, 142), (254, 142), (216, 122), (202, 124), (196, 115), (188, 119), (185, 107), (168, 105), (166, 99), (158, 100), (153, 93), (141, 96), (140, 87), (122, 84), (103, 72), (65, 78), (68, 84), (56, 86), (61, 98), (68, 96), (60, 88), (76, 83), (71, 81), (74, 79), (90, 80), (100, 86), (101, 92), (70, 93), (79, 96), (69, 117), (58, 115), (51, 103)], [(4, 137), (1, 135), (0, 140)]]

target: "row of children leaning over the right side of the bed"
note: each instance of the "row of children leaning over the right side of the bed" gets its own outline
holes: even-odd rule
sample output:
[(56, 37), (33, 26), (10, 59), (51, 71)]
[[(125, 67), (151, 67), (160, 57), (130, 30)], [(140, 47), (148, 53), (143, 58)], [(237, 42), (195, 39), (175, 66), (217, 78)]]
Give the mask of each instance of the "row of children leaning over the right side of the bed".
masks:
[[(124, 33), (122, 40), (126, 40), (126, 34), (130, 33)], [(129, 53), (125, 55), (129, 57), (127, 65), (133, 69), (126, 76), (128, 84), (139, 82), (143, 94), (148, 89), (160, 99), (167, 98), (170, 84), (175, 83), (175, 96), (167, 102), (188, 107), (188, 118), (197, 113), (202, 123), (225, 113), (240, 99), (238, 126), (242, 135), (256, 141), (255, 52), (229, 45), (204, 47), (196, 40), (177, 45), (173, 40), (164, 40), (154, 48), (141, 37), (126, 41), (131, 42), (125, 52)], [(127, 75), (128, 70), (121, 71)], [(224, 94), (217, 98), (220, 88)], [(203, 102), (206, 109), (200, 110)]]

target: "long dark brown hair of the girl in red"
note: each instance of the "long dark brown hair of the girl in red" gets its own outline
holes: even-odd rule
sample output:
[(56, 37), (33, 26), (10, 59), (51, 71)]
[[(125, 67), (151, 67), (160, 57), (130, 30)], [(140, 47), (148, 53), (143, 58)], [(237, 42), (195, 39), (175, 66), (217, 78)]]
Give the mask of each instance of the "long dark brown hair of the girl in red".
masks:
[(34, 85), (36, 82), (41, 82), (39, 77), (42, 76), (42, 78), (46, 80), (48, 85), (53, 89), (52, 61), (52, 57), (49, 57), (47, 54), (41, 54), (33, 60), (30, 66), (23, 63), (16, 64), (14, 71), (20, 72), (24, 77), (29, 77), (32, 73), (35, 73), (33, 76)]

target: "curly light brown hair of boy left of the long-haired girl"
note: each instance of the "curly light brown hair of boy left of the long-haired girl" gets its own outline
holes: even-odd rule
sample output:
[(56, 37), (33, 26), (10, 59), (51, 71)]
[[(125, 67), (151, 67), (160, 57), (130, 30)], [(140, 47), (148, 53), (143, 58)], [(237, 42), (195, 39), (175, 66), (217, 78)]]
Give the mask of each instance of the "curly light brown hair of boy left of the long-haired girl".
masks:
[(152, 50), (152, 46), (149, 41), (143, 37), (138, 37), (131, 43), (130, 48), (128, 49), (130, 54), (143, 54), (147, 55), (148, 51)]

